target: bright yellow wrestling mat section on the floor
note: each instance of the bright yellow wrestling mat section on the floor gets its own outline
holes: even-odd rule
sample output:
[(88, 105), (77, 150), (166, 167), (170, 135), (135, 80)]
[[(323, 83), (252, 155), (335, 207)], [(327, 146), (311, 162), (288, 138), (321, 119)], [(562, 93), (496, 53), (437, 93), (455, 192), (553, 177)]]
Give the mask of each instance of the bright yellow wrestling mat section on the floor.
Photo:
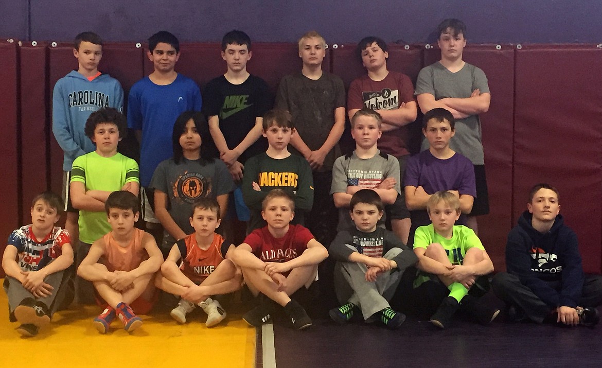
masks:
[[(0, 282), (2, 279), (0, 279)], [(200, 312), (200, 313), (199, 313)], [(208, 329), (195, 311), (178, 325), (169, 311), (140, 316), (144, 324), (128, 334), (119, 320), (101, 335), (92, 320), (93, 305), (57, 312), (36, 337), (22, 337), (8, 322), (8, 300), (0, 292), (0, 367), (243, 367), (255, 366), (255, 328), (230, 314)], [(201, 322), (202, 321), (202, 322)]]

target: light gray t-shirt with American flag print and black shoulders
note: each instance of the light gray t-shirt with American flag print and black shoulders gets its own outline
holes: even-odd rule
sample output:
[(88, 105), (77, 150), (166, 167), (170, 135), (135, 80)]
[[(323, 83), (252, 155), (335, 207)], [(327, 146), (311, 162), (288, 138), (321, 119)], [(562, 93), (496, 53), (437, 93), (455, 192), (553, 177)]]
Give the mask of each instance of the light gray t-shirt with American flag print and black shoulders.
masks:
[[(386, 178), (395, 178), (397, 184), (394, 189), (397, 195), (401, 195), (399, 178), (399, 161), (397, 158), (381, 154), (380, 151), (370, 158), (359, 158), (355, 151), (350, 156), (337, 158), (332, 167), (332, 186), (330, 194), (346, 193), (347, 187), (359, 186), (362, 189), (374, 189)], [(380, 219), (379, 226), (385, 227), (385, 216)], [(337, 231), (355, 228), (349, 208), (339, 208), (339, 223)]]

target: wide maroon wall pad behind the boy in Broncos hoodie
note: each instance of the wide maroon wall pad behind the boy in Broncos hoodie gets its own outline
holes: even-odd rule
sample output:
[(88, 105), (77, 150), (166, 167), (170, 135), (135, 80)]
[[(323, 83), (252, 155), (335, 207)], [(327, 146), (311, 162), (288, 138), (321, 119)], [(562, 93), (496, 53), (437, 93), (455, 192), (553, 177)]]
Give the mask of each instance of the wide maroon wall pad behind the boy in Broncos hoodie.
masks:
[(538, 182), (560, 191), (585, 272), (602, 270), (602, 54), (595, 45), (516, 51), (514, 219)]

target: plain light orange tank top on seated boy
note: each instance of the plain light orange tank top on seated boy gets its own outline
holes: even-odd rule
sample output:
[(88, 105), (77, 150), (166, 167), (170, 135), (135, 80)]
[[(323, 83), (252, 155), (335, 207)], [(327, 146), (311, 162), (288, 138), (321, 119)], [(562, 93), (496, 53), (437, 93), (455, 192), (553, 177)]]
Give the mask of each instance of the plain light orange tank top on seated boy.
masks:
[(142, 247), (143, 236), (143, 230), (134, 228), (132, 240), (128, 246), (123, 247), (113, 239), (112, 231), (104, 235), (102, 237), (105, 242), (104, 265), (107, 266), (107, 269), (110, 272), (116, 270), (131, 271), (138, 268), (142, 261), (147, 260), (149, 255), (146, 249)]

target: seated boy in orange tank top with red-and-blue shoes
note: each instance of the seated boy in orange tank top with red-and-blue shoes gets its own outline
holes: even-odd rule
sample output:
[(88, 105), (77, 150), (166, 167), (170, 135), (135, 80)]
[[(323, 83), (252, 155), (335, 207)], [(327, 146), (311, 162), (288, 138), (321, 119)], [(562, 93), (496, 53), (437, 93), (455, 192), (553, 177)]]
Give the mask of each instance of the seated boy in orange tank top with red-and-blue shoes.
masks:
[(107, 333), (116, 316), (125, 331), (140, 327), (142, 320), (134, 311), (148, 313), (157, 296), (152, 281), (163, 256), (151, 234), (134, 228), (138, 208), (138, 197), (131, 192), (121, 190), (108, 196), (105, 210), (111, 231), (92, 244), (77, 270), (94, 284), (99, 304), (107, 305), (94, 320), (101, 334)]

